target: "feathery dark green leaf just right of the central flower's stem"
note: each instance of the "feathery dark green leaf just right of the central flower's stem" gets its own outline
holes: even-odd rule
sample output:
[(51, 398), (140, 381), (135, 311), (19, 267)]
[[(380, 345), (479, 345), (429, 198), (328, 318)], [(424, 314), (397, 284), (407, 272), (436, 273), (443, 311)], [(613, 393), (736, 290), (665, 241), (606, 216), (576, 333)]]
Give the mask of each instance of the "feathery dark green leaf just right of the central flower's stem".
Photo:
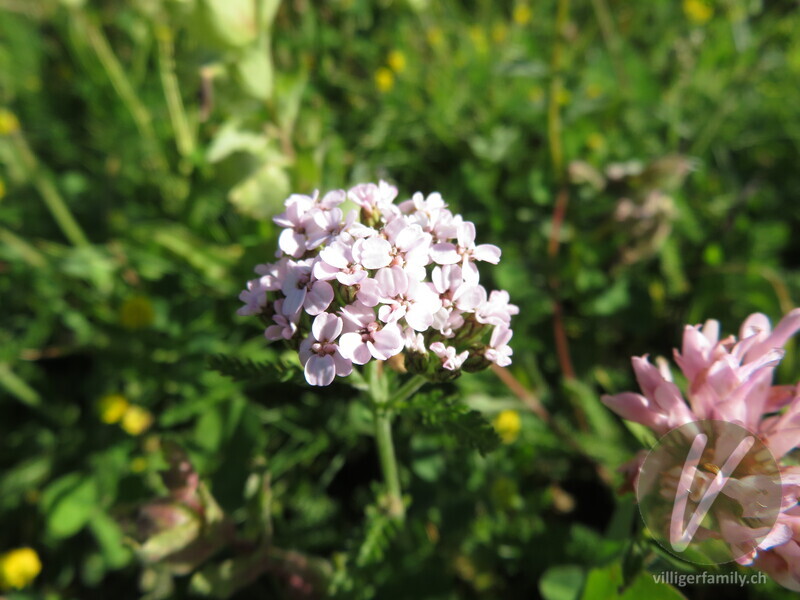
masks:
[(500, 445), (497, 432), (481, 413), (465, 406), (457, 398), (445, 398), (441, 390), (417, 394), (399, 408), (416, 414), (426, 427), (444, 431), (459, 444), (474, 448), (483, 455)]

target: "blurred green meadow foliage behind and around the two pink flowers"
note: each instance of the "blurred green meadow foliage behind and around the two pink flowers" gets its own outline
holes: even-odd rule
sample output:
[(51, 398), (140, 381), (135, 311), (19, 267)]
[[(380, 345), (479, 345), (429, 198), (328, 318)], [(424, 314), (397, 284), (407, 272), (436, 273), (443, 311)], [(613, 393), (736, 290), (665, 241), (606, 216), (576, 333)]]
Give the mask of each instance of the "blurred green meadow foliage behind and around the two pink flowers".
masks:
[[(693, 567), (599, 397), (684, 323), (795, 306), (799, 77), (789, 0), (0, 0), (0, 552), (43, 564), (9, 597), (304, 597), (300, 556), (319, 596), (788, 598), (654, 583)], [(474, 221), (521, 308), (508, 374), (398, 407), (403, 525), (358, 392), (235, 316), (290, 192), (378, 178)], [(194, 575), (132, 541), (172, 442), (253, 544)]]

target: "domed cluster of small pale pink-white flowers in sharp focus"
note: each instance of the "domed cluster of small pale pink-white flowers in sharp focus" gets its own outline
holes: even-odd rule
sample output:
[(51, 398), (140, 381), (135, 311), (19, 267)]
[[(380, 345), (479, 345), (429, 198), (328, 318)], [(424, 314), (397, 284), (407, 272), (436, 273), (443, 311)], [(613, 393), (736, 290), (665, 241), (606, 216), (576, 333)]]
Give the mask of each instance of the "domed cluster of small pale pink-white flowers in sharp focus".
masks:
[(278, 260), (256, 267), (238, 314), (261, 316), (268, 340), (296, 347), (311, 385), (401, 353), (434, 379), (511, 363), (519, 309), (480, 285), (476, 264), (497, 264), (500, 249), (476, 244), (475, 225), (440, 194), (396, 196), (384, 181), (294, 194), (273, 219)]

